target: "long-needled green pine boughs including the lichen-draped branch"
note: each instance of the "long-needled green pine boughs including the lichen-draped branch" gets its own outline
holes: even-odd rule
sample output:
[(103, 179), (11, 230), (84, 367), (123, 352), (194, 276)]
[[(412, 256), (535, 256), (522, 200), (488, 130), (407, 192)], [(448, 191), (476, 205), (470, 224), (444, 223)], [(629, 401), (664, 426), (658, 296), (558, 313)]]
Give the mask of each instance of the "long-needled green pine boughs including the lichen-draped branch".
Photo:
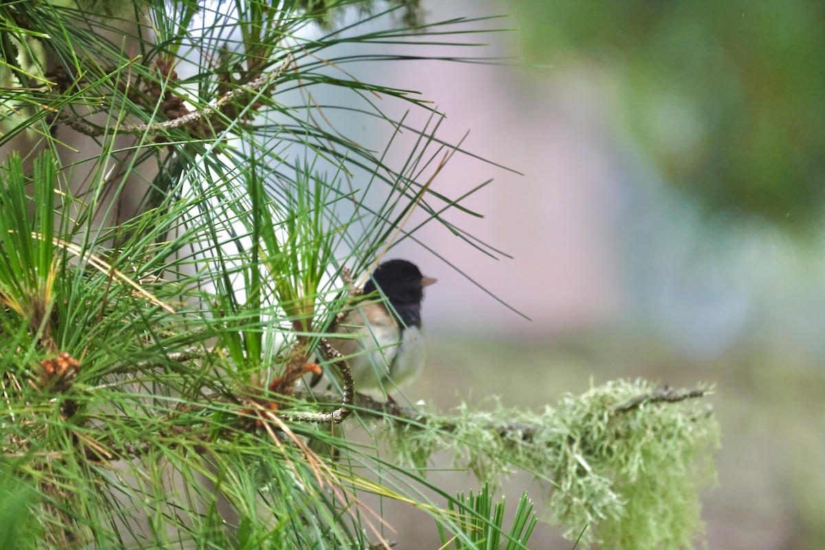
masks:
[[(431, 186), (465, 153), (437, 137), (442, 115), (352, 73), (462, 49), (489, 22), (421, 16), (417, 2), (0, 6), (3, 548), (381, 548), (375, 495), (431, 515), (456, 548), (527, 548), (526, 499), (507, 529), (488, 490), (427, 482), (445, 449), (480, 482), (534, 472), (556, 487), (554, 520), (592, 525), (587, 542), (690, 543), (716, 438), (690, 399), (615, 383), (541, 414), (441, 415), (301, 389), (347, 369), (323, 337), (349, 274), (415, 239), (413, 210), (498, 254), (441, 215), (479, 215)], [(388, 143), (358, 143), (344, 115)], [(318, 425), (347, 415), (373, 444)]]

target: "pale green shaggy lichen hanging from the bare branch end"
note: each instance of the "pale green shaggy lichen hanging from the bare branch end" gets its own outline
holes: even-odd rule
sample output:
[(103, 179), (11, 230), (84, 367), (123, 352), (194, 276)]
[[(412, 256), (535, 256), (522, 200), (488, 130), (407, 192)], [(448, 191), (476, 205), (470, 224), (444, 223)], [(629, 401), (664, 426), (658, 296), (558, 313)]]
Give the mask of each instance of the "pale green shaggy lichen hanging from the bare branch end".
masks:
[(715, 482), (719, 425), (700, 399), (616, 411), (653, 390), (617, 380), (540, 412), (462, 405), (419, 419), (437, 429), (386, 421), (384, 436), (399, 461), (420, 470), (436, 451), (450, 451), (457, 468), (483, 482), (515, 468), (533, 472), (550, 489), (549, 519), (571, 539), (583, 529), (583, 547), (692, 548), (703, 534), (699, 491)]

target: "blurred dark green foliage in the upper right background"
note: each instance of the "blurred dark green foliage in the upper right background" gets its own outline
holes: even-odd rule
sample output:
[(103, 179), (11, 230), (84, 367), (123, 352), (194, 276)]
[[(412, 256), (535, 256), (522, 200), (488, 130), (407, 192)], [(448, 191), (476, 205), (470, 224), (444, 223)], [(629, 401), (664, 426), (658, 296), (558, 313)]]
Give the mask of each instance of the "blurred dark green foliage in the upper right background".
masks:
[(825, 171), (822, 2), (507, 2), (521, 50), (594, 64), (615, 123), (668, 185), (709, 212), (820, 225)]

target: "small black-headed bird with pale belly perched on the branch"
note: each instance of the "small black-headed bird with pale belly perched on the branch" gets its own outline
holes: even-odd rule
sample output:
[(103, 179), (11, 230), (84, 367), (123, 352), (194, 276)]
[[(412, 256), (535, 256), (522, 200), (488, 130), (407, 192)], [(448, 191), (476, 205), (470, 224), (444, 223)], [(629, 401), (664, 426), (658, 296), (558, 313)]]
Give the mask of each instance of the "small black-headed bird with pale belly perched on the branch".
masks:
[(364, 298), (338, 323), (336, 331), (348, 336), (329, 339), (350, 364), (356, 392), (387, 393), (421, 373), (421, 302), (424, 287), (435, 282), (406, 260), (385, 261), (370, 275)]

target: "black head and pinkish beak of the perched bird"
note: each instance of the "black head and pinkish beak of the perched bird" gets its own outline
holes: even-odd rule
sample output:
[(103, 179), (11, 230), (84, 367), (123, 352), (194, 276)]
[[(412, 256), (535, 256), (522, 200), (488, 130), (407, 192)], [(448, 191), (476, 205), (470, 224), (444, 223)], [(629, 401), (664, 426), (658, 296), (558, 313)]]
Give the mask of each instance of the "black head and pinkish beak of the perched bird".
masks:
[(389, 260), (375, 268), (364, 285), (364, 294), (375, 292), (378, 286), (404, 323), (419, 326), (424, 287), (435, 282), (435, 279), (422, 275), (412, 262)]

